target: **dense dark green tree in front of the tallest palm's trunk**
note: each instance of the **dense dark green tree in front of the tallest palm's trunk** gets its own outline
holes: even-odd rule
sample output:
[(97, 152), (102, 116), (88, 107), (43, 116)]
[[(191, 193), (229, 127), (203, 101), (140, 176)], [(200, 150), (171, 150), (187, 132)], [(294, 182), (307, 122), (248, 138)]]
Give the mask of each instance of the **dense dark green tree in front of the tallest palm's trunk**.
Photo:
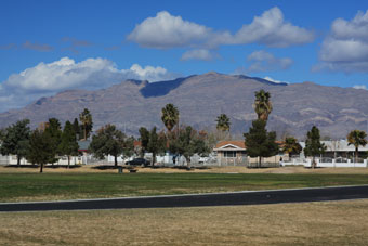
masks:
[(262, 166), (262, 157), (271, 157), (278, 153), (276, 132), (267, 132), (266, 121), (253, 120), (248, 133), (244, 133), (247, 153), (250, 157), (259, 157), (259, 167)]

